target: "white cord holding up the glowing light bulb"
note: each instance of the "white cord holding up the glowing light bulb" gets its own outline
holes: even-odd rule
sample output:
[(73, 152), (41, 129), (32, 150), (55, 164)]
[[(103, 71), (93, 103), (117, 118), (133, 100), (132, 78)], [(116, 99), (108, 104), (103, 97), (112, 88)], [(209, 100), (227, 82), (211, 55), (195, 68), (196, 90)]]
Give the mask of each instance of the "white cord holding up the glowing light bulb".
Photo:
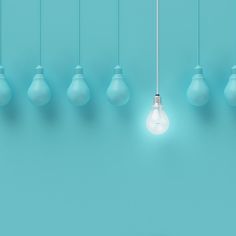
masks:
[(156, 0), (156, 94), (159, 94), (159, 0)]

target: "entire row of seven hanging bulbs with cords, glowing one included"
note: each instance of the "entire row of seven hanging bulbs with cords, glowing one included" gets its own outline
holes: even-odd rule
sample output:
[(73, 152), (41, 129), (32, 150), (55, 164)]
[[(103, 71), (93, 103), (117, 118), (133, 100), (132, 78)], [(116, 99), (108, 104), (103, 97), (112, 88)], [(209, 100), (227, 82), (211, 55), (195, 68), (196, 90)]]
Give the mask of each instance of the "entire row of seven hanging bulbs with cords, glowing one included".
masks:
[[(39, 1), (39, 65), (36, 67), (36, 75), (28, 89), (28, 97), (35, 106), (47, 105), (52, 97), (51, 90), (44, 78), (42, 67), (42, 0)], [(117, 1), (117, 65), (114, 68), (114, 76), (107, 89), (109, 101), (116, 106), (123, 106), (130, 99), (129, 88), (126, 85), (122, 68), (120, 66), (120, 0)], [(2, 65), (2, 0), (0, 0), (0, 106), (6, 106), (12, 99), (12, 91), (7, 83)], [(75, 75), (67, 89), (67, 96), (75, 106), (84, 106), (90, 100), (90, 89), (85, 81), (83, 68), (80, 61), (80, 36), (81, 36), (81, 1), (75, 0), (76, 10), (76, 63)], [(209, 88), (204, 78), (203, 69), (200, 63), (200, 0), (197, 0), (197, 66), (196, 74), (187, 90), (187, 98), (194, 106), (204, 106), (209, 101)], [(224, 94), (229, 104), (236, 106), (236, 66), (232, 68), (233, 73), (225, 88)], [(161, 96), (159, 93), (159, 0), (156, 0), (156, 93), (152, 110), (148, 115), (146, 126), (154, 135), (164, 134), (169, 128), (169, 119), (164, 111)]]

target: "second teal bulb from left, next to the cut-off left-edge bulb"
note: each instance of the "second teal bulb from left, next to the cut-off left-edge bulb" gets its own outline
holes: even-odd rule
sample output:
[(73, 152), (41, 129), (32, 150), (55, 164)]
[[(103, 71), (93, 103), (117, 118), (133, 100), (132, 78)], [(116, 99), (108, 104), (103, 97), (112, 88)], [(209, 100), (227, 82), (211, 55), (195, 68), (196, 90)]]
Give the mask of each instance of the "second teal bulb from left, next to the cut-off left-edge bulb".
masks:
[(51, 100), (51, 90), (44, 78), (42, 66), (36, 68), (37, 73), (28, 89), (28, 97), (35, 106), (45, 106)]

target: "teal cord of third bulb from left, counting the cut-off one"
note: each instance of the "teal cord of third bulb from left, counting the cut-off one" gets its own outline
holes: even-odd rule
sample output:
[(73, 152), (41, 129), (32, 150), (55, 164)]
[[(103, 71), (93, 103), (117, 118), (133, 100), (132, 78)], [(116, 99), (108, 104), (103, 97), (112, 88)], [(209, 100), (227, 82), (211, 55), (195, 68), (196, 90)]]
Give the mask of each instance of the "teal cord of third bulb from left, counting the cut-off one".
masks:
[(76, 64), (80, 65), (81, 61), (81, 1), (75, 0), (75, 15), (76, 15)]

